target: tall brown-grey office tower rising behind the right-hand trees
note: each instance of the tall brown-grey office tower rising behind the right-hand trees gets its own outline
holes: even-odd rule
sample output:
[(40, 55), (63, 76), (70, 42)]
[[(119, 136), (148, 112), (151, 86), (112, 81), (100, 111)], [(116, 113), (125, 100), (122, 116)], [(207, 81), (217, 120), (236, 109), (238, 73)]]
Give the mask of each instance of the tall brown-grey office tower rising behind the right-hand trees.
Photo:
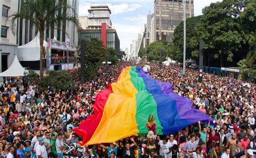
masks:
[[(193, 2), (193, 0), (186, 0), (186, 17), (194, 16)], [(183, 0), (154, 1), (153, 41), (172, 42), (174, 30), (181, 21), (183, 21)]]

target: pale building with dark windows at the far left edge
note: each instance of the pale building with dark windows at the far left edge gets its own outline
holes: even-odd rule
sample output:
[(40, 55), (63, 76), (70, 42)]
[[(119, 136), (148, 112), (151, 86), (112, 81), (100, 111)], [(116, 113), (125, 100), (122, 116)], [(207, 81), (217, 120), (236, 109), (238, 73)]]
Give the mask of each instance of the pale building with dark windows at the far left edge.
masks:
[[(7, 18), (14, 12), (18, 11), (17, 1), (0, 1), (0, 72), (5, 71), (11, 66), (17, 53), (17, 34), (12, 34), (10, 29), (10, 21)], [(7, 20), (7, 21), (6, 21)]]

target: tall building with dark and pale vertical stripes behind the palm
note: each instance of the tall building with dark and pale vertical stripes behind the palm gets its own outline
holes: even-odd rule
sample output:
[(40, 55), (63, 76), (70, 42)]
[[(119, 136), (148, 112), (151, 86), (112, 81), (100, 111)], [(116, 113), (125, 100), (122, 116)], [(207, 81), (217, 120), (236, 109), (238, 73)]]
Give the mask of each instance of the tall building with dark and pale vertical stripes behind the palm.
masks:
[[(58, 2), (58, 0), (52, 0)], [(21, 8), (21, 5), (24, 1), (15, 1), (16, 3), (19, 2), (19, 9)], [(76, 12), (76, 16), (78, 17), (78, 5), (79, 0), (62, 0), (61, 2), (65, 2), (72, 6), (72, 8)], [(60, 10), (59, 14), (66, 14), (65, 9)], [(32, 23), (30, 23), (29, 20), (18, 20), (18, 45), (25, 45), (28, 42), (30, 42), (33, 38), (35, 38), (37, 31), (35, 26), (33, 26)], [(58, 41), (65, 42), (67, 39), (69, 39), (71, 44), (77, 44), (78, 43), (78, 32), (77, 27), (73, 23), (66, 23), (65, 21), (58, 21), (57, 25), (53, 28), (51, 26), (46, 27), (46, 30), (44, 32), (44, 38), (47, 40), (48, 38), (55, 38)]]

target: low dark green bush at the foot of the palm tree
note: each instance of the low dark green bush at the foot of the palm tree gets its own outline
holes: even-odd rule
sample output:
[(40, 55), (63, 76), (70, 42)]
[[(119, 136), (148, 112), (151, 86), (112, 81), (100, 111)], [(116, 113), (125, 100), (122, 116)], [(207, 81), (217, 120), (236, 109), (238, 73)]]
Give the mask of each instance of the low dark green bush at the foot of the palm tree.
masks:
[(75, 84), (78, 75), (76, 73), (71, 73), (69, 70), (50, 70), (47, 72), (47, 76), (43, 77), (42, 81), (39, 81), (41, 86), (40, 91), (44, 91), (51, 87), (56, 91), (65, 90), (70, 87), (70, 85)]

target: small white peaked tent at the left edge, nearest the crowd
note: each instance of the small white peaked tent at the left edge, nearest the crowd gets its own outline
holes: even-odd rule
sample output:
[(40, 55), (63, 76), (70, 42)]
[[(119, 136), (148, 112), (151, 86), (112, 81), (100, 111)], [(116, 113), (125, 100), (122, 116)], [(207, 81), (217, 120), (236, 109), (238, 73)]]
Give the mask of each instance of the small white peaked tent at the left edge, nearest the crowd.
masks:
[(12, 61), (11, 66), (5, 70), (3, 73), (0, 74), (1, 77), (18, 77), (24, 76), (25, 70), (21, 63), (19, 63), (17, 56), (15, 55), (14, 61)]

